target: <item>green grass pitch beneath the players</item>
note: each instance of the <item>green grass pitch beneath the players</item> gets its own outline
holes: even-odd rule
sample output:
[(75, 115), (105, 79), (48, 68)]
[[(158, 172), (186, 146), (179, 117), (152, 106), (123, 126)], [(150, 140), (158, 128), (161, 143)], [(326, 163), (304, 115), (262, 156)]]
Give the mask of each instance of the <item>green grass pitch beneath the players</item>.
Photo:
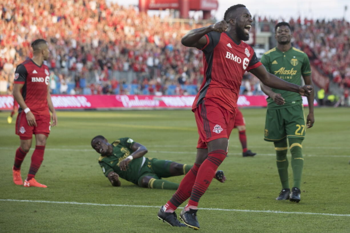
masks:
[[(350, 109), (316, 108), (315, 125), (307, 130), (303, 143), (300, 203), (275, 200), (281, 185), (273, 144), (262, 139), (265, 111), (242, 110), (248, 148), (258, 155), (241, 156), (234, 129), (229, 157), (220, 167), (227, 181), (222, 184), (214, 180), (201, 198), (199, 207), (208, 209), (198, 212), (199, 231), (349, 233)], [(90, 146), (92, 137), (98, 134), (110, 141), (128, 136), (148, 148), (148, 157), (191, 164), (198, 139), (191, 111), (59, 111), (58, 126), (51, 129), (44, 162), (36, 175), (38, 182), (48, 185), (47, 189), (24, 188), (12, 182), (19, 137), (14, 134), (14, 123), (6, 122), (8, 114), (0, 112), (0, 232), (194, 231), (170, 227), (156, 217), (159, 206), (167, 202), (173, 190), (139, 188), (124, 180), (121, 187), (111, 186), (99, 167), (98, 154)], [(34, 147), (22, 164), (23, 178)], [(289, 171), (292, 174), (290, 166)], [(181, 178), (168, 180), (180, 182)]]

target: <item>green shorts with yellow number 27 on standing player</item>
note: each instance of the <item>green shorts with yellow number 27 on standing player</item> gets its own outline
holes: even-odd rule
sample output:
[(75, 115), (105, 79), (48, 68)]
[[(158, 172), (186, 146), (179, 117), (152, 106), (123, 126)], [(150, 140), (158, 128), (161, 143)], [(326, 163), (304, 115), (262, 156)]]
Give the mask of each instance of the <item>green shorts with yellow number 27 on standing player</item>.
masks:
[(274, 110), (267, 109), (264, 140), (278, 142), (285, 137), (304, 139), (305, 125), (302, 104)]

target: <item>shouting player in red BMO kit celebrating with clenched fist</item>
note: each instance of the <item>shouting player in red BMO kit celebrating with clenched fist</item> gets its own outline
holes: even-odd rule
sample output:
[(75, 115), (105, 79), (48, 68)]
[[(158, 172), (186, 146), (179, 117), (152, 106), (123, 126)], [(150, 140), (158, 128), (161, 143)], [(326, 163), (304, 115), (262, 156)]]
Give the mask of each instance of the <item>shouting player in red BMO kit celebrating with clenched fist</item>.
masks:
[(244, 5), (228, 8), (224, 20), (190, 30), (181, 40), (187, 47), (203, 51), (204, 79), (192, 106), (200, 135), (197, 156), (191, 172), (182, 179), (173, 197), (160, 208), (158, 218), (172, 226), (182, 226), (175, 210), (188, 198), (180, 213), (184, 223), (196, 230), (197, 206), (216, 169), (227, 155), (228, 139), (235, 124), (239, 87), (245, 71), (253, 73), (266, 86), (309, 96), (311, 86), (299, 86), (268, 73), (244, 43), (249, 39), (253, 19)]

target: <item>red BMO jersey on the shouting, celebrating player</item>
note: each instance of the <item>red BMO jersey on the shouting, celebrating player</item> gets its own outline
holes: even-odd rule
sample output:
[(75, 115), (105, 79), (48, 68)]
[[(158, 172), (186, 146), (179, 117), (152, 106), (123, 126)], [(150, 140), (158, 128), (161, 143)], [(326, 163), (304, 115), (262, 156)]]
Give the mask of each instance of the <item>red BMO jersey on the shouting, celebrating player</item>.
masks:
[(262, 64), (250, 45), (243, 41), (236, 44), (226, 32), (212, 31), (205, 37), (207, 44), (201, 48), (204, 53), (204, 79), (192, 109), (195, 109), (203, 99), (210, 98), (235, 113), (244, 72)]

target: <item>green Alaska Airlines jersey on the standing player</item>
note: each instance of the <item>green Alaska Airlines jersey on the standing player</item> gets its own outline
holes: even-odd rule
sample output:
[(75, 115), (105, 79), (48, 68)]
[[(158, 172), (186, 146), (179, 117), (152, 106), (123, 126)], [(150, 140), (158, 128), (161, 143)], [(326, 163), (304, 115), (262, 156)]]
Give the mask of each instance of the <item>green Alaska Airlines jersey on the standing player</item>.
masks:
[[(290, 48), (286, 52), (282, 52), (275, 47), (265, 52), (260, 61), (268, 72), (296, 85), (301, 85), (302, 75), (311, 75), (308, 56), (303, 51), (294, 47)], [(268, 109), (286, 108), (302, 103), (302, 98), (299, 93), (274, 88), (272, 88), (272, 91), (275, 93), (280, 93), (283, 99), (285, 99), (286, 103), (284, 105), (278, 105), (271, 97), (268, 97)]]

